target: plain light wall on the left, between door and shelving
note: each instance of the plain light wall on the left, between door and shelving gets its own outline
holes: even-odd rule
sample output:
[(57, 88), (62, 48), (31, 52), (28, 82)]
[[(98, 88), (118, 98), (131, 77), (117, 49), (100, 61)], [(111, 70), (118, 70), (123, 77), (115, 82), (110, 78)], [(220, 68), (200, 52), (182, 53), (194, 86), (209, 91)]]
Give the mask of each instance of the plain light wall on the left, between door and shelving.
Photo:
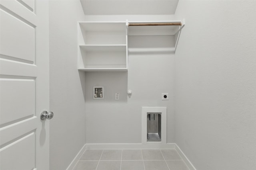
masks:
[(50, 169), (65, 170), (85, 144), (84, 72), (77, 70), (80, 1), (50, 0)]

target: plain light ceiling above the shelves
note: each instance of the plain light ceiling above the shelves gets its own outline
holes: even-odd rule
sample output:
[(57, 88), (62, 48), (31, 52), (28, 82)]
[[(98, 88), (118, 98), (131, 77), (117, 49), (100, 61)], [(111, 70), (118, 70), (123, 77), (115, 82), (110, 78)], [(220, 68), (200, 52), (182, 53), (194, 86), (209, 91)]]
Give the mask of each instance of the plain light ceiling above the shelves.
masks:
[(178, 0), (80, 0), (85, 15), (172, 15)]

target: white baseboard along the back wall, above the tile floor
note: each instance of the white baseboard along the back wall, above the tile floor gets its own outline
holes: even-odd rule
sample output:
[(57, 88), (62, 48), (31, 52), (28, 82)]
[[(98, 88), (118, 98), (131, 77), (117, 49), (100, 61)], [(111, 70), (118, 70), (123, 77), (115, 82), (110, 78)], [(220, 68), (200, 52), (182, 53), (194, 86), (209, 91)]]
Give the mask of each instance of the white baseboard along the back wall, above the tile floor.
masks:
[(175, 143), (88, 143), (86, 149), (174, 149)]

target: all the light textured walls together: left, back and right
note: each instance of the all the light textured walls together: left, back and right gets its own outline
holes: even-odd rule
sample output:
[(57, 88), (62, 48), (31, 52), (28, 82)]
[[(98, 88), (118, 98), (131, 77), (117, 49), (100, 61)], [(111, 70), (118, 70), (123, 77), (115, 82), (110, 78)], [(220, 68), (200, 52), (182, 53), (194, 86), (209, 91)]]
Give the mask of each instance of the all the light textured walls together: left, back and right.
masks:
[[(128, 72), (84, 73), (77, 70), (77, 21), (173, 17), (84, 16), (79, 1), (50, 1), (51, 169), (65, 169), (84, 143), (141, 143), (142, 106), (167, 107), (167, 142), (198, 170), (255, 169), (255, 8), (255, 1), (180, 0), (176, 16), (186, 26), (175, 59), (130, 53)], [(129, 46), (160, 43), (151, 38), (129, 37)], [(93, 86), (104, 86), (104, 100), (92, 100)]]

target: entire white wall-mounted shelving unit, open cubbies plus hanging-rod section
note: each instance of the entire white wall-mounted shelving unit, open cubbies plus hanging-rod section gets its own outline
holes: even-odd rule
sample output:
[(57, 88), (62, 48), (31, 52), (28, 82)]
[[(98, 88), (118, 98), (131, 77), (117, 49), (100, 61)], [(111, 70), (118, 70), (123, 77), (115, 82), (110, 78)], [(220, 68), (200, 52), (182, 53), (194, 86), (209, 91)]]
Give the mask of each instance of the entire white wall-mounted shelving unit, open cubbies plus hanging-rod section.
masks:
[[(183, 21), (129, 21), (140, 26), (129, 26), (126, 22), (78, 22), (78, 69), (83, 71), (127, 71), (128, 35), (170, 35), (173, 43), (166, 46), (162, 41), (166, 36), (151, 36), (152, 41), (144, 45), (130, 45), (131, 53), (176, 51)], [(138, 25), (138, 24), (133, 24)], [(146, 26), (145, 26), (146, 25)], [(150, 37), (150, 36), (144, 36)], [(156, 38), (158, 37), (158, 38)], [(134, 38), (140, 38), (134, 36)], [(134, 41), (137, 42), (137, 41)], [(164, 43), (164, 44), (162, 44)], [(138, 47), (138, 48), (137, 48)]]

